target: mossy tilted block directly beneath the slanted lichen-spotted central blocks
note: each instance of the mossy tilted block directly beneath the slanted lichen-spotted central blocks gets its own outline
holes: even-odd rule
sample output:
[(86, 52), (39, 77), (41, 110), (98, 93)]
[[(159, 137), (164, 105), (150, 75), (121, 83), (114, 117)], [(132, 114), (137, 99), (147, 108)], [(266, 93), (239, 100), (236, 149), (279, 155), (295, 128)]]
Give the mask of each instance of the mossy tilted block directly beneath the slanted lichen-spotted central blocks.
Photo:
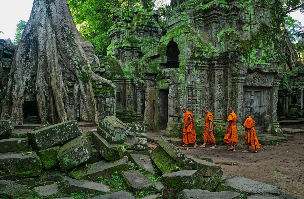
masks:
[(126, 144), (110, 144), (97, 132), (93, 132), (92, 140), (96, 150), (98, 150), (105, 160), (113, 161), (125, 156), (128, 147)]

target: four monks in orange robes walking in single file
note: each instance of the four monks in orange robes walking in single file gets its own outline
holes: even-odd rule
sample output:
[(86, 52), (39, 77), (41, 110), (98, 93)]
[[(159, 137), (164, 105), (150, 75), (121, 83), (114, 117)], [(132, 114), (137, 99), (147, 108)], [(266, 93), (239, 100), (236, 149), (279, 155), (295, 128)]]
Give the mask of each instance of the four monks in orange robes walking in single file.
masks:
[[(184, 116), (184, 129), (183, 129), (183, 142), (185, 143), (182, 145), (182, 147), (187, 147), (187, 144), (194, 143), (194, 148), (197, 147), (196, 143), (196, 134), (194, 130), (194, 119), (193, 115), (186, 109), (186, 107), (183, 107), (181, 109), (183, 113), (185, 113)], [(224, 137), (224, 142), (230, 144), (229, 151), (235, 151), (235, 144), (239, 141), (237, 137), (237, 115), (234, 113), (233, 108), (229, 107), (229, 116), (228, 116), (228, 126), (226, 128), (226, 133)], [(213, 115), (208, 110), (207, 107), (203, 108), (203, 112), (206, 114), (205, 118), (205, 126), (204, 126), (204, 133), (203, 133), (203, 139), (204, 143), (203, 145), (199, 147), (206, 147), (206, 144), (212, 144), (213, 146), (210, 148), (216, 148), (215, 138), (213, 135)], [(257, 149), (260, 148), (259, 142), (257, 140), (257, 135), (254, 130), (254, 120), (251, 117), (251, 113), (246, 113), (246, 121), (244, 122), (245, 126), (245, 144), (247, 145), (246, 150), (243, 150), (242, 152), (249, 152), (249, 146), (251, 145), (252, 152), (257, 153)]]

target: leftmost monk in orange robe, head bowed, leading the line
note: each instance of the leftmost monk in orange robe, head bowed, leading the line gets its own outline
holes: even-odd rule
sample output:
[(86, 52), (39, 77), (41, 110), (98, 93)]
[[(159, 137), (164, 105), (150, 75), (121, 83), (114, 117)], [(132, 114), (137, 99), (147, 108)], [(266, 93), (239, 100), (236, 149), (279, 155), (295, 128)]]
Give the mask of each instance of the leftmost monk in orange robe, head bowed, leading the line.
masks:
[(194, 143), (194, 147), (196, 148), (196, 134), (194, 130), (194, 119), (193, 115), (190, 111), (187, 111), (186, 107), (182, 107), (181, 111), (185, 113), (184, 116), (184, 129), (183, 129), (183, 142), (185, 143), (182, 147), (187, 147), (187, 144)]

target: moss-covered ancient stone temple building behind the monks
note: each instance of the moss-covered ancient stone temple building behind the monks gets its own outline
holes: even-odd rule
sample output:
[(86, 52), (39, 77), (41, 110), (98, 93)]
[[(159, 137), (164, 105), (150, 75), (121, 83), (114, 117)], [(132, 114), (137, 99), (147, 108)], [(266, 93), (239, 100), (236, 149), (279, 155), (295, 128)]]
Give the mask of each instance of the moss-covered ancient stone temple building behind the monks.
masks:
[(237, 125), (251, 111), (258, 131), (281, 132), (285, 45), (275, 2), (182, 0), (171, 8), (164, 22), (141, 8), (113, 11), (108, 55), (121, 68), (109, 65), (113, 73), (105, 77), (117, 86), (116, 116), (143, 118), (150, 129), (174, 135), (183, 106), (195, 121), (207, 106), (218, 124), (233, 106)]

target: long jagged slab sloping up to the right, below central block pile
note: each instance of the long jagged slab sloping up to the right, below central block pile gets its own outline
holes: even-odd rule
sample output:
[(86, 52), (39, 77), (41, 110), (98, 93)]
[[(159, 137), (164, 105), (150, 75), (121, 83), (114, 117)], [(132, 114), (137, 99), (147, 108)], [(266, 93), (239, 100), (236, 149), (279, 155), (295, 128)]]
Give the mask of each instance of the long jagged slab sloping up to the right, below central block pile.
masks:
[[(70, 172), (70, 177), (75, 178), (77, 180), (84, 179), (84, 180), (99, 180), (98, 177), (111, 177), (115, 171), (121, 173), (121, 171), (129, 170), (132, 168), (133, 165), (126, 159), (121, 158), (120, 160), (116, 160), (113, 162), (108, 162), (102, 160), (100, 162), (96, 162), (93, 164), (89, 164), (88, 166), (88, 173), (86, 167), (82, 170), (72, 171)], [(89, 177), (90, 178), (89, 178)]]

